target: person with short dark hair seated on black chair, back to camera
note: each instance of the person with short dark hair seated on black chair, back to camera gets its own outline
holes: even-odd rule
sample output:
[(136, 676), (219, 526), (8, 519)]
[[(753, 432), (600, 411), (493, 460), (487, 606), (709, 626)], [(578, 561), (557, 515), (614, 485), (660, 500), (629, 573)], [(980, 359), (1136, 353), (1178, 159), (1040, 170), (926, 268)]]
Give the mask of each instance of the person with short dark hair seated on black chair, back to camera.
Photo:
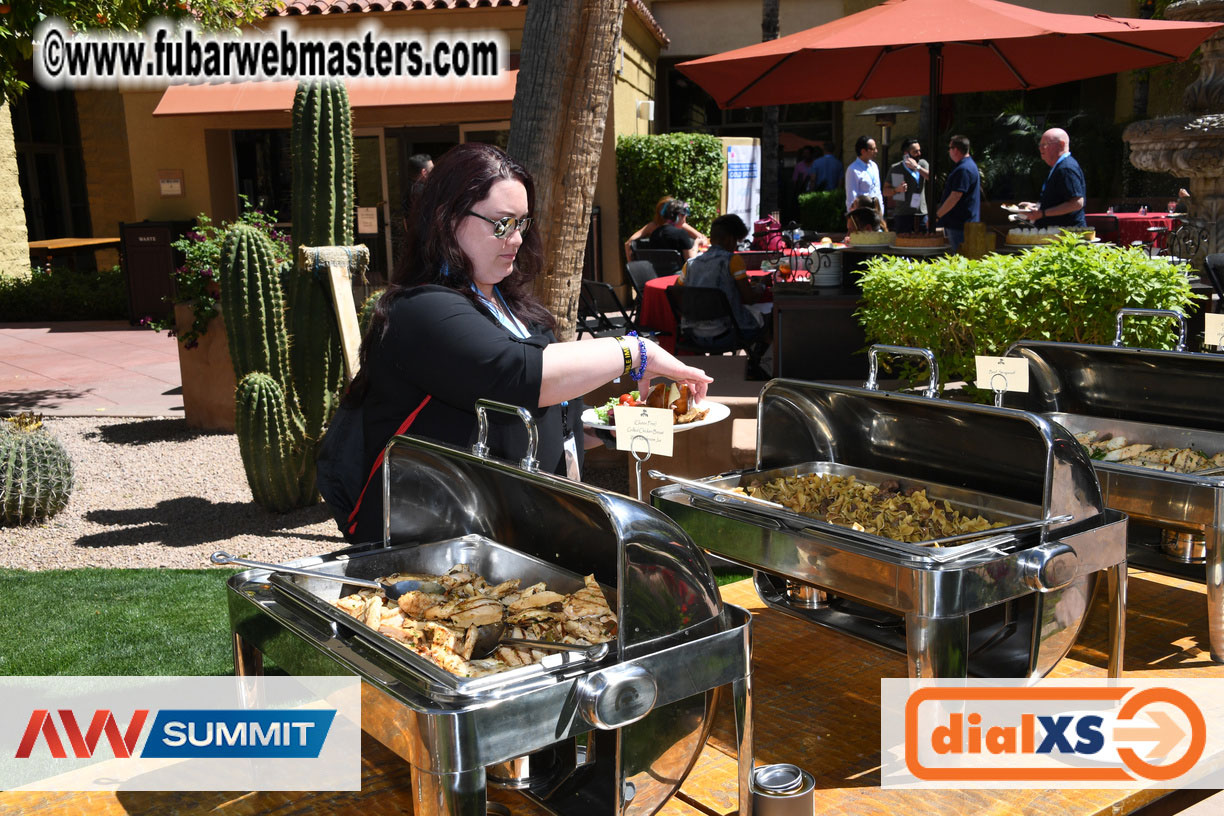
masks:
[[(710, 248), (684, 264), (676, 285), (706, 286), (722, 291), (731, 303), (731, 313), (741, 334), (754, 341), (753, 345), (760, 344), (764, 349), (770, 343), (772, 327), (765, 323), (761, 311), (747, 306), (758, 302), (764, 289), (754, 289), (749, 284), (744, 259), (734, 253), (747, 235), (748, 225), (738, 215), (727, 214), (714, 219), (710, 225)], [(730, 318), (725, 317), (692, 323), (682, 318), (681, 328), (688, 332), (696, 345), (711, 351), (725, 346), (732, 330)]]

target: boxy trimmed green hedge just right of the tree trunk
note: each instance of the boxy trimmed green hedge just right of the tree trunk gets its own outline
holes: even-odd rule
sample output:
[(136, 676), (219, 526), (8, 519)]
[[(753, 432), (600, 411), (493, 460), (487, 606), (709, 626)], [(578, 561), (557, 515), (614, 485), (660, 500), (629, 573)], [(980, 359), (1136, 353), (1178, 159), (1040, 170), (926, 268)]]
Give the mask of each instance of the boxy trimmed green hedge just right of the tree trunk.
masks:
[(655, 203), (663, 196), (688, 202), (689, 224), (709, 232), (710, 221), (718, 214), (722, 168), (722, 142), (717, 136), (618, 136), (616, 182), (621, 241), (655, 217)]

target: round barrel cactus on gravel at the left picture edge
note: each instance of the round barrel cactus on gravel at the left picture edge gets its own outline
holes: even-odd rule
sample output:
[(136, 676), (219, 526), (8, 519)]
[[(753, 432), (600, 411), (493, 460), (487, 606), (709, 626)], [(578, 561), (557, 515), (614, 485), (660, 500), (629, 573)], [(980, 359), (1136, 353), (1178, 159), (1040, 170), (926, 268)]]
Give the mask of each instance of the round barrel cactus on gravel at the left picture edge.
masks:
[(33, 414), (0, 422), (0, 524), (50, 519), (72, 494), (72, 460)]

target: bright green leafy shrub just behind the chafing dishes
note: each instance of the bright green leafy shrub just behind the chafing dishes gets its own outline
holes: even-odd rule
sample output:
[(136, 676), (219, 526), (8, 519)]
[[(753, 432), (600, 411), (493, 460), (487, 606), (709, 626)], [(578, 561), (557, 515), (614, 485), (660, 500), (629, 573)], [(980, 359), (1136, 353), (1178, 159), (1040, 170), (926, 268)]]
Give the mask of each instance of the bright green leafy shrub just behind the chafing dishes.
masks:
[[(1118, 310), (1186, 312), (1181, 268), (1142, 250), (1072, 235), (1020, 254), (873, 258), (862, 272), (857, 316), (871, 343), (930, 349), (940, 379), (972, 382), (974, 355), (1001, 355), (1017, 340), (1110, 344)], [(1129, 321), (1129, 346), (1171, 349), (1170, 321)], [(912, 369), (903, 368), (907, 376)]]

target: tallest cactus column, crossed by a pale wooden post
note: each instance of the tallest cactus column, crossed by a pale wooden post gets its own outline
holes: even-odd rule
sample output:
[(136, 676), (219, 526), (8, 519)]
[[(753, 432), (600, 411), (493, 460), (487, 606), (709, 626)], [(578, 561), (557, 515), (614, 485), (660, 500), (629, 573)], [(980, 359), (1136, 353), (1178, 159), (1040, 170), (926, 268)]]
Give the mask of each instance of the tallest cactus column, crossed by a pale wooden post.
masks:
[[(294, 94), (294, 243), (353, 243), (353, 119), (349, 94), (335, 80), (301, 82)], [(344, 357), (327, 280), (294, 270), (288, 285), (295, 384), (306, 434), (317, 439), (344, 387)]]

